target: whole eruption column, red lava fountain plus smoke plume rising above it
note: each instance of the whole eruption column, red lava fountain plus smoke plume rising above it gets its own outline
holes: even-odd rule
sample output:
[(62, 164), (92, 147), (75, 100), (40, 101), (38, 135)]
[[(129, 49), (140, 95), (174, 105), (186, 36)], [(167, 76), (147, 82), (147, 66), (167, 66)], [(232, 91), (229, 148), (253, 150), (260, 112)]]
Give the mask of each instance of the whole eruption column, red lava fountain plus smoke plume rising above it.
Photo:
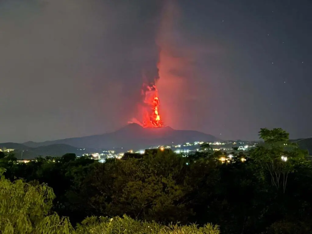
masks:
[[(132, 122), (140, 122), (146, 126), (146, 122), (154, 121), (150, 120), (153, 119), (151, 116), (155, 114), (154, 98), (157, 98), (158, 103), (156, 111), (158, 111), (158, 105), (160, 105), (159, 96), (161, 98), (158, 93), (158, 83), (161, 84), (160, 90), (166, 93), (167, 96), (172, 94), (173, 99), (178, 99), (180, 96), (179, 90), (185, 88), (184, 78), (190, 66), (185, 51), (181, 50), (181, 45), (179, 45), (180, 35), (175, 32), (179, 16), (180, 12), (176, 2), (166, 1), (156, 30), (154, 54), (157, 56), (154, 57), (154, 61), (147, 61), (142, 70), (143, 85), (138, 109), (143, 118), (139, 118), (140, 120), (135, 119)], [(156, 118), (156, 115), (154, 115), (154, 118)], [(160, 116), (157, 116), (157, 118), (160, 118)], [(161, 118), (159, 126), (163, 126), (162, 120)], [(158, 124), (147, 125), (158, 126)]]

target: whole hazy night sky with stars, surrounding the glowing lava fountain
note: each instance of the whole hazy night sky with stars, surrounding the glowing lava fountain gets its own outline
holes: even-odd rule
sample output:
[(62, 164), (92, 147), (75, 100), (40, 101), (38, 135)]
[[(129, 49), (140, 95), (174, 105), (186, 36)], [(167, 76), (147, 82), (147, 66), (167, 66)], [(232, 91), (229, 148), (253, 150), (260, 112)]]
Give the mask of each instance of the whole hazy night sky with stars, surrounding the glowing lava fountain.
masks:
[(119, 129), (158, 61), (172, 128), (310, 137), (311, 12), (311, 0), (1, 0), (0, 142)]

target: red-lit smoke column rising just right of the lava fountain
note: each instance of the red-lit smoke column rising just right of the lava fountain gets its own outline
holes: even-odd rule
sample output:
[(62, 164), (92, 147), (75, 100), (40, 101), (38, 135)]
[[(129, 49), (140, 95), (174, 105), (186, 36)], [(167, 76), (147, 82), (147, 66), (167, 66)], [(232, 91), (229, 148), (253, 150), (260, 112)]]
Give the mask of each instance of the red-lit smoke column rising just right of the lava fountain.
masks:
[(195, 77), (196, 63), (202, 56), (200, 53), (207, 51), (192, 45), (193, 38), (181, 26), (183, 15), (178, 1), (166, 1), (161, 16), (156, 43), (160, 48), (157, 87), (163, 120), (176, 129), (185, 125), (196, 128), (197, 120), (188, 121), (184, 113), (190, 113), (189, 103), (201, 99)]

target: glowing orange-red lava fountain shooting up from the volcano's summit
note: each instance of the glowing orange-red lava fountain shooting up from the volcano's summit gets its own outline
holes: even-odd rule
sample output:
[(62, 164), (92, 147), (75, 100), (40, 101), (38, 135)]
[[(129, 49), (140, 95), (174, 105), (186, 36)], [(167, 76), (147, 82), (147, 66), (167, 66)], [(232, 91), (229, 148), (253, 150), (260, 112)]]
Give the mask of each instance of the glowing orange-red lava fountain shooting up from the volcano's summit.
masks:
[(143, 116), (143, 127), (163, 127), (163, 121), (159, 114), (159, 96), (155, 85), (145, 86), (144, 103), (147, 105)]

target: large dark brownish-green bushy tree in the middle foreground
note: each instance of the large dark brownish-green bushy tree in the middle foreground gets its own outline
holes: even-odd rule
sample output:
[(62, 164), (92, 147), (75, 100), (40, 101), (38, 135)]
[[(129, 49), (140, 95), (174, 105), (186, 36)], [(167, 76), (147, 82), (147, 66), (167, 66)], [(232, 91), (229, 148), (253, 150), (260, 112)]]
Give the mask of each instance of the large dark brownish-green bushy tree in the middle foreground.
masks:
[(72, 208), (95, 215), (121, 216), (159, 222), (185, 222), (193, 215), (186, 206), (187, 158), (158, 151), (142, 159), (95, 163), (85, 176), (75, 176), (67, 193)]

